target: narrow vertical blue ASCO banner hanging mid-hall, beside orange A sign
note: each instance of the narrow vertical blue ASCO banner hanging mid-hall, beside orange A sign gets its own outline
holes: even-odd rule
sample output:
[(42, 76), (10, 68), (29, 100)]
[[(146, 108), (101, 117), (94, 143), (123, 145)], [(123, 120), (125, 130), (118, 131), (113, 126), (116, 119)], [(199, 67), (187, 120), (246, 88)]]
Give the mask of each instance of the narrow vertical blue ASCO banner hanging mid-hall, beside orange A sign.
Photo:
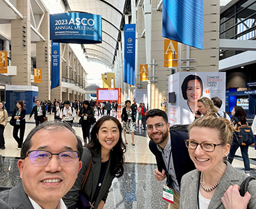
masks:
[(135, 42), (136, 24), (125, 24), (125, 67), (124, 81), (135, 85)]

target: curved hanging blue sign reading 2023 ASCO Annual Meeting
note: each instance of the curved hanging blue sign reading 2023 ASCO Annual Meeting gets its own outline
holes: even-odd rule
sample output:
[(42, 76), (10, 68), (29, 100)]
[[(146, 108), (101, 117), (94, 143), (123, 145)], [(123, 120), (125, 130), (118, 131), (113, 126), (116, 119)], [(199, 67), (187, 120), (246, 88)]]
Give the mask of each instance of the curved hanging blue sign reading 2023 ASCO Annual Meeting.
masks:
[(84, 12), (50, 15), (50, 39), (61, 43), (101, 43), (102, 16)]

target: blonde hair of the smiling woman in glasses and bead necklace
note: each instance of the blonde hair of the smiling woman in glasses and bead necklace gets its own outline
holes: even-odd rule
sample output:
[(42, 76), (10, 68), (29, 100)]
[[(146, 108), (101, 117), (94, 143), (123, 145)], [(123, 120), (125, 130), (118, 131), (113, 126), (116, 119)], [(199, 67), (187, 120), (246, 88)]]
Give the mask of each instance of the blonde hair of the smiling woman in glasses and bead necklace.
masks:
[(213, 128), (218, 131), (218, 138), (221, 140), (221, 143), (230, 145), (233, 140), (233, 132), (235, 131), (234, 126), (228, 119), (215, 117), (214, 115), (207, 115), (205, 117), (195, 119), (189, 126), (189, 133), (193, 127)]

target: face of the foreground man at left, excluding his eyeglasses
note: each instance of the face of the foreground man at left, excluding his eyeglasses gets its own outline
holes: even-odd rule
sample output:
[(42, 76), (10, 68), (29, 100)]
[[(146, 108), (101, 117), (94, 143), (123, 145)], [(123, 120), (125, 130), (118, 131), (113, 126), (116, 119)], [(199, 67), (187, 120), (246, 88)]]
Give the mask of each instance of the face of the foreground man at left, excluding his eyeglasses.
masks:
[[(31, 150), (44, 150), (51, 153), (77, 151), (77, 138), (67, 129), (47, 131), (42, 129), (31, 138)], [(24, 191), (40, 206), (45, 203), (58, 202), (74, 185), (81, 169), (77, 158), (72, 165), (61, 165), (54, 155), (47, 165), (36, 166), (30, 157), (18, 162), (20, 178)]]

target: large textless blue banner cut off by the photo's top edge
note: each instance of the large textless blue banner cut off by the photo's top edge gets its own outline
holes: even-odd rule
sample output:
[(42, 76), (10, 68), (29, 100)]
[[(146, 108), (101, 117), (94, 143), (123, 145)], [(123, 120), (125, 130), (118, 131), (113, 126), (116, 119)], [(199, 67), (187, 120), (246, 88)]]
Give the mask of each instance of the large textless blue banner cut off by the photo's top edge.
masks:
[(203, 0), (163, 0), (162, 36), (203, 49)]

